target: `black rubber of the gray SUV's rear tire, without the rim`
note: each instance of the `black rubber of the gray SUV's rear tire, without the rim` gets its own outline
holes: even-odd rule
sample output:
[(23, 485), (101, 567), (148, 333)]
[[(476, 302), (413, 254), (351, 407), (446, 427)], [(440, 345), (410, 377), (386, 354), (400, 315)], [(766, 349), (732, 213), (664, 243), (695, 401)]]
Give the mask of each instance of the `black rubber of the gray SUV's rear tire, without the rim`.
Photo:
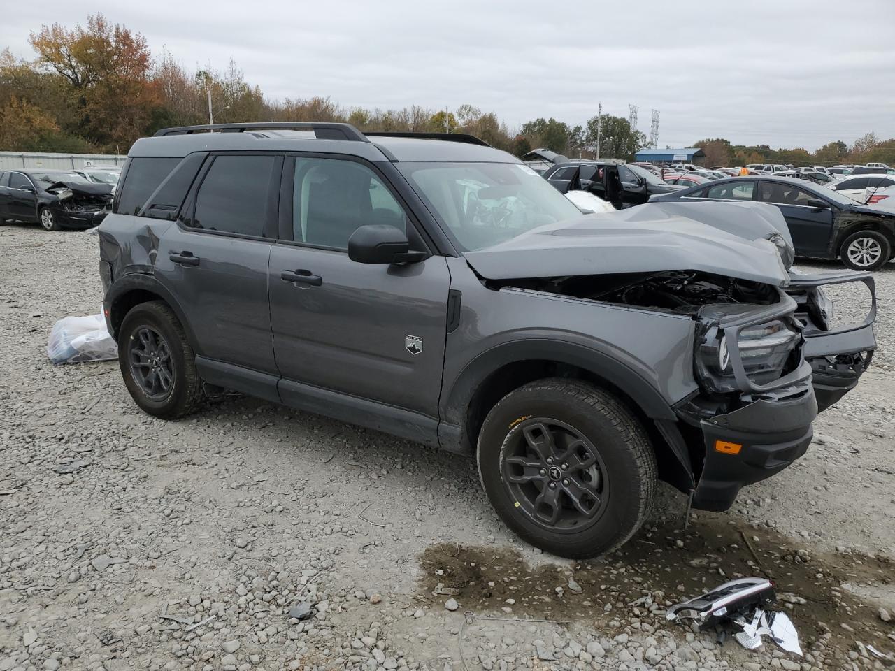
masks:
[[(133, 378), (131, 371), (129, 361), (131, 343), (134, 334), (143, 326), (150, 327), (158, 335), (161, 335), (165, 340), (168, 352), (171, 354), (174, 382), (170, 391), (163, 399), (155, 400), (149, 398), (143, 392), (137, 380)], [(175, 331), (167, 319), (158, 314), (158, 310), (151, 304), (138, 305), (124, 316), (118, 335), (118, 365), (121, 368), (124, 385), (127, 386), (127, 390), (131, 393), (134, 402), (144, 412), (159, 417), (166, 417), (173, 414), (175, 409), (184, 402), (184, 397), (188, 393), (185, 380), (186, 360), (180, 343), (180, 334)]]

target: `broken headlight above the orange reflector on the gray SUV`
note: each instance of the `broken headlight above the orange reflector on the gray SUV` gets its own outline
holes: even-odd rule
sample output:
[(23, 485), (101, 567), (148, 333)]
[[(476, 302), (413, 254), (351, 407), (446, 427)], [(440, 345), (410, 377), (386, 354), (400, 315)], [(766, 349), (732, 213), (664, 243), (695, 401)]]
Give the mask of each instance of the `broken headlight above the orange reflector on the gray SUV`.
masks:
[[(797, 330), (781, 319), (741, 328), (737, 345), (746, 377), (755, 384), (767, 384), (782, 377), (788, 372), (787, 363), (799, 337)], [(705, 323), (703, 340), (696, 352), (696, 373), (700, 383), (712, 392), (739, 389), (728, 338), (717, 322)]]

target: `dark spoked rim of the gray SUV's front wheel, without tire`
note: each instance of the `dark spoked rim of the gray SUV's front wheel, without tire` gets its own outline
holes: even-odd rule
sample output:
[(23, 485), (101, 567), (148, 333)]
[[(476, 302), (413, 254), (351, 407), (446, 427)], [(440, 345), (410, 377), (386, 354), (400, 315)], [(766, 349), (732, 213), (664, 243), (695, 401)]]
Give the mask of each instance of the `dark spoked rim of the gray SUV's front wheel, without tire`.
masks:
[(600, 453), (563, 421), (539, 417), (516, 424), (500, 453), (500, 474), (516, 509), (550, 531), (581, 531), (609, 502)]

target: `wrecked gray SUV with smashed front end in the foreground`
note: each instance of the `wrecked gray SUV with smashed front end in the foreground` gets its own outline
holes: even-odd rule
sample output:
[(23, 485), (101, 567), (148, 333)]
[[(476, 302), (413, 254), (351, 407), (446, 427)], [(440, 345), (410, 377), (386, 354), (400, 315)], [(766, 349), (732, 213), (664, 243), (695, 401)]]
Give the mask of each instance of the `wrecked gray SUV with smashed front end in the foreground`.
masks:
[[(657, 480), (725, 510), (812, 437), (823, 282), (674, 207), (584, 215), (465, 135), (165, 129), (99, 227), (105, 315), (150, 414), (226, 388), (474, 454), (519, 536), (594, 556)], [(825, 404), (874, 346), (827, 352)]]

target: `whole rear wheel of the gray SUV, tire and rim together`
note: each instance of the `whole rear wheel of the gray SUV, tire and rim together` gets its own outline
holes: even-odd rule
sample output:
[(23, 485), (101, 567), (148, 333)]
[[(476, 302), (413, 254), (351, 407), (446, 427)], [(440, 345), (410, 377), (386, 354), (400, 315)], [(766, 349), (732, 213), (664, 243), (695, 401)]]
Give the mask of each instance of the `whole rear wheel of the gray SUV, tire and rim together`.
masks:
[(118, 365), (124, 385), (150, 415), (173, 420), (195, 412), (202, 385), (195, 354), (175, 313), (162, 301), (140, 303), (118, 333)]

